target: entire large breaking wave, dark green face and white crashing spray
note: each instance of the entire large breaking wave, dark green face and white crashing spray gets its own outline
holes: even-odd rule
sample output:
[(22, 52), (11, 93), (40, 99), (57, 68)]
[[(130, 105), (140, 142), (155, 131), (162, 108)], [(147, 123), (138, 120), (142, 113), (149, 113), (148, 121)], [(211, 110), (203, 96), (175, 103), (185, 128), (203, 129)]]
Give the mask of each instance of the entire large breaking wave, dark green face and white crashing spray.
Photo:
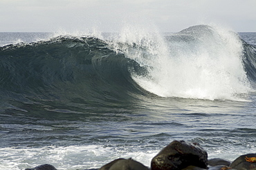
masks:
[(256, 80), (256, 47), (208, 25), (167, 36), (131, 28), (111, 40), (57, 36), (0, 47), (0, 57), (2, 100), (23, 103), (113, 105), (133, 94), (236, 100)]

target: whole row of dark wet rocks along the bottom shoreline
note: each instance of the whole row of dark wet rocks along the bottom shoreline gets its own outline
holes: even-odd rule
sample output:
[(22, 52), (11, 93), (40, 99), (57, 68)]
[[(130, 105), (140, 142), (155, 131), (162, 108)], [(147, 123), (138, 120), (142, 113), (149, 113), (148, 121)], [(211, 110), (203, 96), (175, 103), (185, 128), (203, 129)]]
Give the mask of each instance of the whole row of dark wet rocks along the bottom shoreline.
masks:
[[(119, 158), (100, 169), (90, 170), (256, 170), (256, 153), (239, 156), (233, 162), (220, 158), (208, 160), (207, 152), (197, 143), (174, 140), (163, 148), (151, 161), (151, 167), (131, 158)], [(57, 170), (51, 164), (25, 170)]]

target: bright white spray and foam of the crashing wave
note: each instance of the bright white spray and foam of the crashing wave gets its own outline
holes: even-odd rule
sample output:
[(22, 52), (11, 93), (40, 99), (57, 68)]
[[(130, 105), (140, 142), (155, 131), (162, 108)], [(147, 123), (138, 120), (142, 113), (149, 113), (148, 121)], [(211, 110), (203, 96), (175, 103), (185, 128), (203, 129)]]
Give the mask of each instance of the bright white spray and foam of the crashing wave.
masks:
[(237, 34), (201, 25), (175, 36), (178, 41), (165, 41), (157, 32), (134, 27), (121, 32), (120, 41), (133, 45), (122, 51), (149, 71), (134, 74), (138, 85), (163, 97), (244, 100), (251, 89)]

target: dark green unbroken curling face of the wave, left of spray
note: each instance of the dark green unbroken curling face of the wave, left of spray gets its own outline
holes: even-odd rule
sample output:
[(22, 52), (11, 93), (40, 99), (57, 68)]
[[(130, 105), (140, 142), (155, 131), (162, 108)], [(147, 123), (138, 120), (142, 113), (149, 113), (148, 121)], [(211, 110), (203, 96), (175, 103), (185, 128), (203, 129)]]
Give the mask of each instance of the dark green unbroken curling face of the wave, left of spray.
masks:
[(136, 61), (96, 37), (57, 36), (1, 47), (1, 93), (15, 100), (106, 103), (140, 93), (130, 70)]

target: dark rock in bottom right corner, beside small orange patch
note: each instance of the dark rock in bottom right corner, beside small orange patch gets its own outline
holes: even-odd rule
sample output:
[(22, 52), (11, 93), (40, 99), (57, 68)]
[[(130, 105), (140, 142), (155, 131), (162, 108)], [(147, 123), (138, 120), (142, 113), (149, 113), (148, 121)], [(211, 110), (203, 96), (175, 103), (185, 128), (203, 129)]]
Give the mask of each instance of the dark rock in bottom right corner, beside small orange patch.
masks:
[(256, 162), (248, 162), (246, 161), (246, 157), (247, 158), (256, 157), (256, 153), (249, 153), (243, 156), (239, 156), (230, 164), (230, 167), (232, 169), (237, 169), (237, 170), (249, 170), (249, 169), (256, 170)]

